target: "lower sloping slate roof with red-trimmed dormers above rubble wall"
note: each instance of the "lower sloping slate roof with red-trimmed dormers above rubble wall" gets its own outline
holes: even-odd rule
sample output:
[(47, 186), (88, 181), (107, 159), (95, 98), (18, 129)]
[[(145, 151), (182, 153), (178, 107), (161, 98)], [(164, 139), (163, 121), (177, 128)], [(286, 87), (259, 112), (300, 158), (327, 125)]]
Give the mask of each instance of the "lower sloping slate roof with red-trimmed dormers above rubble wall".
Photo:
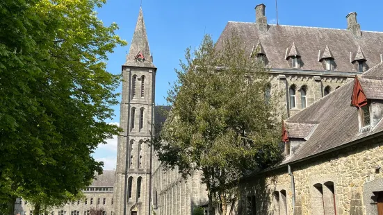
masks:
[[(368, 77), (375, 76), (383, 78), (383, 63), (366, 71), (362, 78), (367, 79)], [(382, 80), (368, 81), (373, 83), (378, 81), (380, 86), (382, 85)], [(309, 139), (300, 144), (295, 154), (288, 161), (286, 160), (286, 163), (298, 161), (305, 157), (348, 144), (351, 141), (383, 132), (382, 121), (377, 123), (377, 126), (369, 132), (359, 132), (358, 110), (357, 107), (350, 105), (353, 87), (354, 80), (339, 87), (339, 89), (336, 89), (331, 94), (320, 98), (320, 100), (285, 121), (287, 124), (297, 122), (304, 124), (312, 123), (313, 121), (318, 123)], [(378, 91), (381, 95), (383, 94), (383, 87), (374, 88), (371, 92), (373, 91)], [(380, 97), (380, 99), (382, 98)], [(306, 135), (307, 130), (307, 127), (304, 127), (302, 130), (304, 135)]]

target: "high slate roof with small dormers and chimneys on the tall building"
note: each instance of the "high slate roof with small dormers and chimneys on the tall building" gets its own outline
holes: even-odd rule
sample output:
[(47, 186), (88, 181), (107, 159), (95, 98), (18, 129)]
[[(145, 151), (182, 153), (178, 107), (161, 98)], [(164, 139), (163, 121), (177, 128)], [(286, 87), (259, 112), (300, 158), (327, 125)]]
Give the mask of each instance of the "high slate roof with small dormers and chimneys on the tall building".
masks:
[(380, 63), (380, 54), (383, 53), (383, 33), (379, 32), (361, 31), (361, 38), (357, 38), (346, 29), (284, 25), (269, 25), (268, 31), (259, 31), (258, 24), (248, 22), (229, 22), (218, 39), (218, 47), (222, 40), (230, 37), (233, 30), (245, 40), (249, 55), (253, 45), (260, 41), (268, 58), (268, 66), (275, 69), (291, 69), (286, 55), (292, 53), (286, 52), (286, 49), (291, 52), (293, 43), (301, 56), (302, 70), (325, 70), (322, 63), (318, 62), (318, 53), (326, 45), (334, 56), (336, 71), (357, 72), (350, 61), (359, 58), (359, 46), (370, 68)]

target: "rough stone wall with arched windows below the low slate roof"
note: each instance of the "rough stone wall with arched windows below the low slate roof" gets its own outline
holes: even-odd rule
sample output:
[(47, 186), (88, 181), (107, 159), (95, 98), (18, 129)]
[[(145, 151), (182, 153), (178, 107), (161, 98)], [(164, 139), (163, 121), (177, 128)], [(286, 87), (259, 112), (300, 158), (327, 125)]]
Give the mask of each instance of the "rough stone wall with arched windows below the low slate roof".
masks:
[[(294, 210), (287, 166), (254, 175), (242, 182), (243, 195), (234, 214), (252, 214), (248, 201), (254, 195), (256, 214), (275, 214), (278, 207), (281, 215), (335, 214), (335, 210), (338, 215), (375, 215), (374, 192), (383, 191), (383, 174), (376, 167), (382, 165), (383, 139), (373, 139), (292, 164)], [(286, 213), (283, 212), (284, 204)]]

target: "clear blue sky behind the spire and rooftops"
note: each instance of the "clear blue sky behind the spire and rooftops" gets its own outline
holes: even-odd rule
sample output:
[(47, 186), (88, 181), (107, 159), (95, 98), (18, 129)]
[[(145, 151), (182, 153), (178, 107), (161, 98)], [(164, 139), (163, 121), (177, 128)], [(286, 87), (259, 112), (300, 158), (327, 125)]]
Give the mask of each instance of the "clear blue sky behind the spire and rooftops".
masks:
[[(268, 24), (277, 23), (275, 0), (142, 0), (147, 36), (153, 53), (156, 74), (156, 104), (166, 104), (165, 96), (177, 77), (174, 68), (184, 58), (188, 46), (195, 47), (201, 42), (204, 33), (217, 40), (227, 22), (254, 22), (254, 7), (264, 3)], [(321, 0), (321, 1), (278, 1), (279, 24), (293, 26), (313, 26), (323, 28), (347, 28), (345, 16), (357, 12), (357, 21), (362, 31), (382, 31), (381, 12), (383, 1)], [(98, 17), (104, 24), (116, 22), (120, 29), (116, 32), (130, 44), (136, 26), (140, 0), (109, 0), (103, 8), (98, 8)], [(113, 74), (121, 73), (121, 65), (129, 45), (117, 47), (109, 55), (107, 69)], [(121, 92), (121, 88), (117, 89)], [(115, 119), (118, 124), (120, 107), (115, 106)], [(108, 140), (100, 146), (94, 157), (103, 160), (104, 169), (113, 169), (116, 160), (117, 139)]]

